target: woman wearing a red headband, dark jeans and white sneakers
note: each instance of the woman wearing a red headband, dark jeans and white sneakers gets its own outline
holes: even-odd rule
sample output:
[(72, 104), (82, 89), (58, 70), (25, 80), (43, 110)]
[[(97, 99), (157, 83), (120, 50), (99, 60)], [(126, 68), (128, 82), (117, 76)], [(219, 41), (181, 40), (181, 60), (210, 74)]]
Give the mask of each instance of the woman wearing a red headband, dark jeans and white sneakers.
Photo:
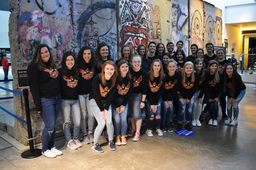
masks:
[(208, 125), (217, 126), (218, 112), (219, 112), (218, 103), (220, 101), (220, 95), (222, 94), (222, 92), (220, 92), (221, 72), (218, 71), (218, 62), (215, 60), (210, 60), (207, 67), (207, 72), (208, 72), (207, 88), (209, 93), (209, 114), (210, 114), (210, 120), (208, 122)]

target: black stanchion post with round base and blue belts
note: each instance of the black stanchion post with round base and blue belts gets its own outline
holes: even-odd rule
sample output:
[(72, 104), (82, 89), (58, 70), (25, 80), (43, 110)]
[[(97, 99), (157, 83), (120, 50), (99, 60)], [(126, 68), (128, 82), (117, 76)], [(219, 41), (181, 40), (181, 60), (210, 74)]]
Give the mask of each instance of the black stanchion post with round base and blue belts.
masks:
[[(31, 118), (30, 118), (29, 103), (28, 103), (28, 89), (23, 89), (23, 93), (24, 93), (24, 105), (25, 105), (26, 119), (27, 119), (28, 138), (30, 139), (33, 137), (33, 135), (32, 135)], [(29, 141), (29, 148), (30, 150), (26, 150), (22, 152), (21, 154), (22, 158), (36, 158), (42, 155), (41, 149), (34, 149), (33, 140)]]

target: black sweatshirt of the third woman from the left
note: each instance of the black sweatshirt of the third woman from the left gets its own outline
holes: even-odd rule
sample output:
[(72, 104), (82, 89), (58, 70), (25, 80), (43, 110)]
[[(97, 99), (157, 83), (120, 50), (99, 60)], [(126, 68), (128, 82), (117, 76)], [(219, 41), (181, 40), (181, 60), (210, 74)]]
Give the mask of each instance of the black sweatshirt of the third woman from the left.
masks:
[(95, 74), (95, 69), (90, 63), (85, 63), (84, 68), (79, 68), (78, 94), (89, 94), (92, 90), (92, 80)]

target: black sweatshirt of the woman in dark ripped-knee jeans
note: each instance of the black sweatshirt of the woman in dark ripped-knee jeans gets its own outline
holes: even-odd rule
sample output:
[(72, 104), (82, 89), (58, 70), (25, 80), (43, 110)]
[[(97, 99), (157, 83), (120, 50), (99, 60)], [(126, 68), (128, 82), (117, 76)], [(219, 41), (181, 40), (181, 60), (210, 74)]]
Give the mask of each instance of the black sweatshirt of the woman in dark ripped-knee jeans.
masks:
[(160, 96), (163, 94), (165, 85), (165, 77), (160, 80), (160, 75), (150, 80), (150, 73), (148, 73), (148, 93), (147, 100), (150, 105), (157, 105)]

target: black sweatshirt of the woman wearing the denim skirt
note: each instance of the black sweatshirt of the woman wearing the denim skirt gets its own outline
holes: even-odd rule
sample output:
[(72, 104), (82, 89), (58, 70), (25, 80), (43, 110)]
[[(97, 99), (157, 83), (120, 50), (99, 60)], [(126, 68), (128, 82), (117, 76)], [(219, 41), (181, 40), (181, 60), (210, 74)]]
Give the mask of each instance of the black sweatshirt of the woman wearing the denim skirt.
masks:
[(132, 93), (147, 94), (148, 87), (148, 75), (145, 70), (133, 71), (133, 67), (129, 68), (131, 75), (133, 76), (133, 91)]

